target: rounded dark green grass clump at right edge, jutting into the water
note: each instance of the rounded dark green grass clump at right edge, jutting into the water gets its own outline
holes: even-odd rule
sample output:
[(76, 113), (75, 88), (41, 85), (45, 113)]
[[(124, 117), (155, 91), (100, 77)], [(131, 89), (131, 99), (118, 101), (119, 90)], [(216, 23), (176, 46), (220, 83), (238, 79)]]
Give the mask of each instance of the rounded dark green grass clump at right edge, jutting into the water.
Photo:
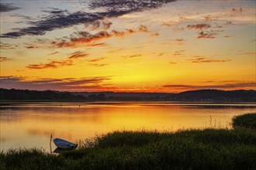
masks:
[(256, 129), (256, 113), (242, 114), (233, 117), (232, 124), (234, 128), (254, 128)]

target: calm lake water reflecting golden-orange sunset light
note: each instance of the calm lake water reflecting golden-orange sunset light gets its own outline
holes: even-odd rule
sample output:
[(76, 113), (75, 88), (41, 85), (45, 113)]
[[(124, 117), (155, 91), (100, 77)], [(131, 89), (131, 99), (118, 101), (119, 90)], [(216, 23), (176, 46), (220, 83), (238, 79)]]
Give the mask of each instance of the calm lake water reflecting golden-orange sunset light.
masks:
[(75, 142), (116, 130), (230, 128), (231, 117), (256, 112), (256, 104), (38, 103), (0, 109), (1, 150), (50, 151), (50, 134)]

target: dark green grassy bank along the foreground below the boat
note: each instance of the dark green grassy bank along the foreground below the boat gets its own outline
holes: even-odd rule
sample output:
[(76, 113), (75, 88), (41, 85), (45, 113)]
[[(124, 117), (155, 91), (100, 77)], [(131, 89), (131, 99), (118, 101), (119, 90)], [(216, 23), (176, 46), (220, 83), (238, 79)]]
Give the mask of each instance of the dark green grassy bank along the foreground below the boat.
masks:
[(38, 149), (2, 152), (0, 168), (256, 169), (256, 131), (116, 131), (60, 155)]

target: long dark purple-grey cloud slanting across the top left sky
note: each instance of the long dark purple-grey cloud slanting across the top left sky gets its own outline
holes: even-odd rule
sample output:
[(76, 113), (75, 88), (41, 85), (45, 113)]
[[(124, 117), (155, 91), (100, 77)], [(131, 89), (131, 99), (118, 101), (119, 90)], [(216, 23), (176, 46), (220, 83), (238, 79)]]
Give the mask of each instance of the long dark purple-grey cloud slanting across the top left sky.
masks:
[[(32, 26), (19, 29), (16, 32), (7, 32), (2, 34), (5, 38), (17, 38), (20, 36), (39, 36), (46, 32), (55, 29), (63, 29), (78, 24), (88, 24), (97, 22), (102, 19), (116, 18), (121, 15), (129, 14), (131, 12), (141, 12), (150, 8), (159, 8), (169, 2), (175, 0), (95, 0), (88, 6), (92, 9), (99, 9), (99, 12), (74, 12), (51, 10), (47, 17), (44, 17), (36, 22), (29, 22)], [(105, 9), (105, 10), (102, 10)], [(146, 28), (141, 28), (141, 31), (147, 31)]]

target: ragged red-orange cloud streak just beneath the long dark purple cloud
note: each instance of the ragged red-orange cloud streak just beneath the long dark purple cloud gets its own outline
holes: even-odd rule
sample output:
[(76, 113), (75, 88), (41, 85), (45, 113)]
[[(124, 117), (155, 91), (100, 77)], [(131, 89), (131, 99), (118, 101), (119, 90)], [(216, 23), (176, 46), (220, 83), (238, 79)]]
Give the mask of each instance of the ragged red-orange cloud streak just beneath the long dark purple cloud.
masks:
[[(104, 43), (95, 43), (102, 39), (109, 39), (111, 37), (122, 37), (126, 35), (130, 35), (136, 32), (148, 32), (147, 26), (141, 25), (138, 29), (126, 29), (126, 31), (116, 31), (112, 30), (111, 32), (100, 31), (95, 34), (91, 34), (89, 32), (74, 32), (67, 39), (62, 39), (60, 42), (54, 41), (51, 42), (52, 45), (61, 48), (78, 48), (83, 46), (102, 46)], [(95, 43), (95, 44), (94, 44)]]

